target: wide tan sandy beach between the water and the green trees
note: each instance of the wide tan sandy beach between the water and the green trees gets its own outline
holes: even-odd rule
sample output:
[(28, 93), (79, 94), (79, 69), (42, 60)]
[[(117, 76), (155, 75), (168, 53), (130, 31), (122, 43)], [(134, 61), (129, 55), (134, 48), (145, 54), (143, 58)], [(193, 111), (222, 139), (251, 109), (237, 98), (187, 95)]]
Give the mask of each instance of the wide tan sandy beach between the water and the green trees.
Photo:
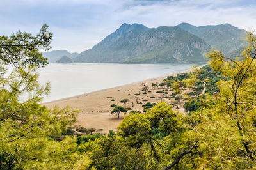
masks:
[[(184, 72), (191, 72), (191, 69), (177, 73)], [(170, 75), (177, 75), (177, 73)], [(151, 84), (153, 82), (159, 84), (163, 82), (167, 76), (168, 75), (127, 84), (125, 86), (103, 89), (75, 97), (47, 102), (44, 105), (47, 107), (54, 107), (54, 105), (58, 105), (59, 108), (69, 105), (72, 109), (79, 109), (80, 113), (77, 116), (77, 122), (74, 125), (75, 127), (95, 128), (96, 132), (101, 134), (108, 134), (109, 130), (116, 131), (118, 124), (124, 119), (125, 116), (124, 113), (121, 113), (120, 118), (118, 119), (115, 114), (110, 114), (111, 110), (114, 108), (110, 106), (111, 104), (124, 107), (124, 104), (122, 104), (120, 100), (123, 98), (128, 98), (130, 101), (126, 104), (126, 107), (131, 107), (133, 111), (142, 112), (143, 104), (146, 104), (147, 102), (157, 103), (161, 101), (159, 96), (163, 94), (156, 93), (156, 91), (161, 90), (162, 88), (158, 87), (156, 89), (152, 89)], [(141, 83), (145, 83), (151, 92), (143, 94), (143, 91), (141, 91)], [(168, 93), (171, 93), (171, 91), (168, 91)], [(139, 102), (142, 102), (142, 104), (137, 104), (136, 100), (134, 99), (135, 97), (140, 98)], [(163, 98), (163, 101), (170, 103), (169, 98)], [(181, 107), (180, 111), (183, 112)]]

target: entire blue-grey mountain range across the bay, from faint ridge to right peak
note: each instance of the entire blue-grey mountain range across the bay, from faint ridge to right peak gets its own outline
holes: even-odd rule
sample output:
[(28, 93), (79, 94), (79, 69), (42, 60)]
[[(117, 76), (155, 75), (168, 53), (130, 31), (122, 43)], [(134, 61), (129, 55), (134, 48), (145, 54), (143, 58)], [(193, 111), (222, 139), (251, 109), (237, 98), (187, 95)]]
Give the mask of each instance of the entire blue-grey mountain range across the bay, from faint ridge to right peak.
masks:
[(122, 24), (115, 32), (84, 52), (45, 52), (49, 62), (61, 56), (81, 63), (188, 63), (205, 61), (209, 49), (232, 54), (244, 46), (246, 31), (230, 24), (148, 28), (142, 24)]

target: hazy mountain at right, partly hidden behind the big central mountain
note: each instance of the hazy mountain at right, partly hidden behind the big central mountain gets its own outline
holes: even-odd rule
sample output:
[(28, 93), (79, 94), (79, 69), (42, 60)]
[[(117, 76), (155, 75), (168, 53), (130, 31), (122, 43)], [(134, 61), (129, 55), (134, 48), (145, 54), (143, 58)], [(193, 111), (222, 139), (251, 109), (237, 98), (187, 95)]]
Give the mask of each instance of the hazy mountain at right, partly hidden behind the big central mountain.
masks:
[(181, 23), (178, 26), (202, 38), (202, 40), (209, 43), (213, 49), (220, 50), (224, 54), (229, 54), (234, 50), (244, 47), (244, 41), (242, 39), (246, 31), (230, 24), (196, 27), (188, 23)]

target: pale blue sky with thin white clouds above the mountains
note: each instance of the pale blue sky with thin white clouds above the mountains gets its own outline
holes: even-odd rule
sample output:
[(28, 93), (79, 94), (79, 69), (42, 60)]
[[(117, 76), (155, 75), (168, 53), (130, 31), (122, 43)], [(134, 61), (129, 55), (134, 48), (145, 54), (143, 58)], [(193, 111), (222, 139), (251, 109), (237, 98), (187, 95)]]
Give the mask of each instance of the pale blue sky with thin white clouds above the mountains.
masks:
[(0, 0), (0, 35), (18, 30), (38, 33), (42, 24), (53, 35), (52, 49), (82, 52), (123, 23), (147, 27), (229, 23), (256, 29), (255, 0)]

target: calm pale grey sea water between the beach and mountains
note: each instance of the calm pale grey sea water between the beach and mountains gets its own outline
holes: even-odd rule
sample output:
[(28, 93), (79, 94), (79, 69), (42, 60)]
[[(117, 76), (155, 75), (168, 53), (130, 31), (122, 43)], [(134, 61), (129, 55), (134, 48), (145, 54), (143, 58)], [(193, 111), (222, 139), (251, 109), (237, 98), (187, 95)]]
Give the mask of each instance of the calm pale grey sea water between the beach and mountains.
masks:
[(191, 68), (191, 64), (50, 63), (40, 68), (40, 82), (51, 82), (44, 102), (113, 88)]

